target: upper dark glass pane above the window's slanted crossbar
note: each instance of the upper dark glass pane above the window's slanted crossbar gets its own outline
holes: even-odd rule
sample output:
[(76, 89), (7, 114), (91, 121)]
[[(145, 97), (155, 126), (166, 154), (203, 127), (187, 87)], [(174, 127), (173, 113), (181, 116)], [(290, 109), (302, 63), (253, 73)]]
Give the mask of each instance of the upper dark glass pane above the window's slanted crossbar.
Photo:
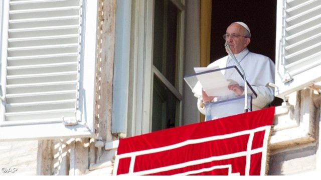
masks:
[(153, 64), (177, 86), (178, 8), (170, 0), (155, 0)]

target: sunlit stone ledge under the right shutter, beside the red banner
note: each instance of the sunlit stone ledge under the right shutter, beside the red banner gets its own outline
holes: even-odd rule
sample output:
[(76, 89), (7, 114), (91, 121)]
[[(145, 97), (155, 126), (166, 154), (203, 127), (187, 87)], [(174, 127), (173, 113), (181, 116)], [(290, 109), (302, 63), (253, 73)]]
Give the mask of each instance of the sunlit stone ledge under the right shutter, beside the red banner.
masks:
[[(270, 149), (278, 149), (315, 141), (315, 121), (319, 119), (320, 106), (315, 104), (313, 90), (305, 88), (292, 94), (288, 110), (276, 107)], [(282, 109), (283, 108), (283, 109)]]

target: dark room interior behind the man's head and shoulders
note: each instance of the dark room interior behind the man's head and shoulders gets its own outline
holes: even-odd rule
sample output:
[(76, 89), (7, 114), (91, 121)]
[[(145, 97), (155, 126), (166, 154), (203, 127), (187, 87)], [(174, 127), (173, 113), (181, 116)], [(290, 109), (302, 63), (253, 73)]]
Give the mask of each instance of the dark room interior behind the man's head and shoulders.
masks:
[[(211, 62), (225, 56), (222, 35), (235, 21), (251, 30), (249, 50), (270, 57), (275, 63), (276, 0), (212, 0)], [(280, 105), (275, 98), (272, 105)]]

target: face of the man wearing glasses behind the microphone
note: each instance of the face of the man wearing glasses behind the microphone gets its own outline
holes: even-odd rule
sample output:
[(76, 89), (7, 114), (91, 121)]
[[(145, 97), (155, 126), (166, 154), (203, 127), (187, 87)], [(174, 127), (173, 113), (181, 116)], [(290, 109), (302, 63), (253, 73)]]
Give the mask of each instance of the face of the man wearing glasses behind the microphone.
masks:
[[(245, 29), (242, 25), (238, 23), (232, 23), (230, 26), (226, 29), (226, 34), (230, 35), (229, 37), (226, 37), (225, 43), (228, 43), (230, 45), (230, 48), (234, 54), (237, 54), (244, 50), (247, 45), (250, 43), (250, 38), (244, 37), (245, 36)], [(231, 35), (241, 35), (236, 38), (232, 38)], [(226, 49), (226, 52), (229, 53), (229, 51)]]

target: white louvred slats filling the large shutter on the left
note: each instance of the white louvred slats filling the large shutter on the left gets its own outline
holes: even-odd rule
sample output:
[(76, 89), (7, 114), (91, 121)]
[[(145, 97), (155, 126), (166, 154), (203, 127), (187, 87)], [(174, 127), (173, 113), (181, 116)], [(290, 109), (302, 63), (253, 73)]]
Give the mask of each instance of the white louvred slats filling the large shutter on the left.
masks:
[(1, 125), (81, 123), (82, 0), (10, 0), (7, 5)]

